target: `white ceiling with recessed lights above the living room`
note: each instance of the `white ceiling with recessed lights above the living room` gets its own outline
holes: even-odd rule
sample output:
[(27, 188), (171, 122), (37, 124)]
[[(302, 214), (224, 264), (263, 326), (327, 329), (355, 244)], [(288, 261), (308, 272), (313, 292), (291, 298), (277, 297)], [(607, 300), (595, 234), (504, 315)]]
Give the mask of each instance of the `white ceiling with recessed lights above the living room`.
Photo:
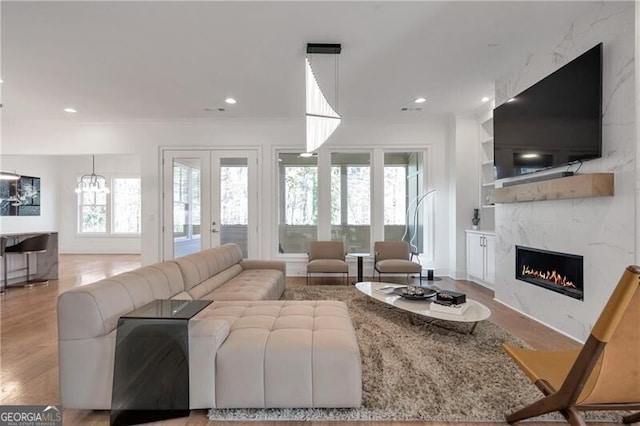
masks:
[[(342, 44), (338, 93), (345, 118), (473, 111), (480, 98), (493, 96), (497, 78), (529, 52), (552, 48), (572, 20), (599, 4), (2, 1), (0, 7), (3, 118), (121, 121), (303, 117), (309, 42)], [(331, 100), (334, 73), (325, 74), (319, 78)], [(238, 103), (225, 105), (227, 96)], [(417, 107), (417, 96), (428, 98), (422, 111), (400, 111)], [(64, 113), (68, 106), (78, 113)]]

